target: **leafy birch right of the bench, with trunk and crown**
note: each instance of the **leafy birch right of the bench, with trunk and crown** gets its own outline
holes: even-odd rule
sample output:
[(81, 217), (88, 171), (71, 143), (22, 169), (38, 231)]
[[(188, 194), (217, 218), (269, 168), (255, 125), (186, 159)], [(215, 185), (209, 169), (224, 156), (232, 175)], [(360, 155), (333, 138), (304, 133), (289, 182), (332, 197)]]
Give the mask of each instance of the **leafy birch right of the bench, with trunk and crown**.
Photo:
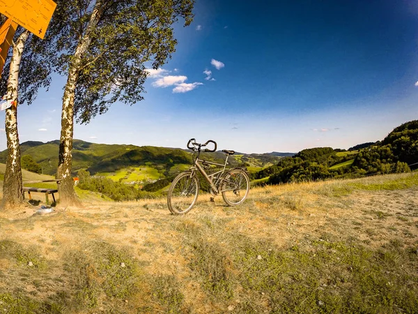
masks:
[(192, 22), (194, 0), (68, 0), (52, 29), (54, 66), (67, 76), (61, 112), (57, 179), (60, 204), (79, 205), (72, 182), (74, 119), (88, 123), (111, 103), (143, 99), (145, 63), (164, 64), (175, 51), (173, 24)]

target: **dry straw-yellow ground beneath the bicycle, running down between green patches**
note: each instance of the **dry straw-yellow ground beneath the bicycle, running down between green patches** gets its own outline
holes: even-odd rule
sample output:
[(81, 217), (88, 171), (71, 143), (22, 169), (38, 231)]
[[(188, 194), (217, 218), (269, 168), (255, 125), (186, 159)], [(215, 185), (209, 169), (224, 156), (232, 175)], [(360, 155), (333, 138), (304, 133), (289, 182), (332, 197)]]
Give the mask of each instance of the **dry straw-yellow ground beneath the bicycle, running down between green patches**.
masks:
[[(185, 216), (171, 215), (164, 199), (84, 201), (84, 208), (58, 207), (42, 215), (36, 214), (39, 206), (28, 205), (13, 213), (0, 213), (0, 241), (36, 247), (39, 258), (56, 265), (63, 264), (68, 252), (88, 250), (91, 241), (129, 248), (144, 274), (176, 276), (188, 291), (189, 303), (200, 300), (201, 308), (196, 313), (211, 313), (215, 301), (208, 302), (202, 288), (190, 279), (194, 275), (189, 259), (194, 255), (185, 249), (187, 230), (200, 228), (208, 243), (217, 241), (221, 248), (235, 234), (267, 239), (275, 248), (298, 246), (309, 251), (315, 239), (355, 241), (374, 250), (395, 241), (415, 247), (418, 253), (417, 195), (417, 185), (347, 191), (346, 183), (329, 181), (254, 188), (239, 207), (227, 207), (222, 197), (214, 203), (209, 201), (210, 195), (199, 195), (196, 207)], [(0, 294), (13, 288), (47, 297), (70, 281), (65, 277), (65, 267), (54, 267), (48, 278), (38, 278), (40, 275), (30, 269), (16, 268), (10, 258), (1, 256), (1, 250), (0, 269)], [(37, 286), (38, 281), (42, 283)]]

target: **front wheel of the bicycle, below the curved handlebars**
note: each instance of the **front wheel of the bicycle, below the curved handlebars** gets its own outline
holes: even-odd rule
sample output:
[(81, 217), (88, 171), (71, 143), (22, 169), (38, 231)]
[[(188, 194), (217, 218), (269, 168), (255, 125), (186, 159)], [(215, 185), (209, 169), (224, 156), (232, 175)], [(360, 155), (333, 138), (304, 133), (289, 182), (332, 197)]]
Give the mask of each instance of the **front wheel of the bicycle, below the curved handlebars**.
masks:
[(175, 215), (186, 214), (196, 204), (199, 180), (192, 172), (182, 172), (174, 178), (167, 195), (167, 205)]

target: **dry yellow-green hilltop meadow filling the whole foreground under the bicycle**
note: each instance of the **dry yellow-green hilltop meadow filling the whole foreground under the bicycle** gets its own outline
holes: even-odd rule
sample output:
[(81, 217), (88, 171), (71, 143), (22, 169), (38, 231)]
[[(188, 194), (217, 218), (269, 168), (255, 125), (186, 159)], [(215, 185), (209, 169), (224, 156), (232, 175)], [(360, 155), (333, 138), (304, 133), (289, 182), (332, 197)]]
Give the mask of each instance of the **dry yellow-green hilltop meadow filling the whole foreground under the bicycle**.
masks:
[(418, 172), (0, 213), (1, 313), (418, 313)]

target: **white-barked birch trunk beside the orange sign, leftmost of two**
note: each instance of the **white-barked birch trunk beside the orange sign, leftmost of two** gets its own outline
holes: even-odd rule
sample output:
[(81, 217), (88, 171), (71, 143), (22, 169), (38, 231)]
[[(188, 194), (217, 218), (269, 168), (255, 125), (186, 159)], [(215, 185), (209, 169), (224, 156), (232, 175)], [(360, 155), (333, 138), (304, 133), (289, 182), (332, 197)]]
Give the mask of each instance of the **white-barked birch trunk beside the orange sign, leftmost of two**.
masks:
[(17, 133), (17, 91), (19, 86), (19, 68), (24, 44), (29, 36), (29, 31), (24, 31), (13, 45), (13, 56), (10, 61), (10, 74), (6, 98), (15, 100), (12, 107), (6, 109), (6, 137), (8, 156), (6, 171), (3, 181), (3, 200), (1, 208), (4, 210), (14, 209), (23, 204), (22, 168), (20, 166), (20, 142)]

